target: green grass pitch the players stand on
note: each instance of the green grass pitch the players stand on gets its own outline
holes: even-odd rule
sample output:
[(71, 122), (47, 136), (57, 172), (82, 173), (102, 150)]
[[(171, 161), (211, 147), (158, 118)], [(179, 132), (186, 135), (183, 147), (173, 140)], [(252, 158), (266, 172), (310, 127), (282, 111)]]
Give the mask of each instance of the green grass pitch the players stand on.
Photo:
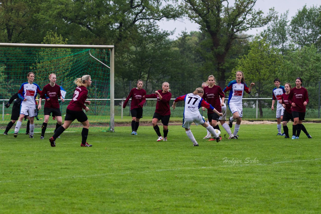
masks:
[[(299, 140), (276, 125), (241, 125), (239, 140), (202, 138), (193, 147), (180, 125), (156, 142), (151, 126), (47, 140), (0, 136), (1, 213), (320, 213), (319, 124)], [(289, 126), (291, 133), (291, 126)], [(222, 131), (224, 134), (225, 131)]]

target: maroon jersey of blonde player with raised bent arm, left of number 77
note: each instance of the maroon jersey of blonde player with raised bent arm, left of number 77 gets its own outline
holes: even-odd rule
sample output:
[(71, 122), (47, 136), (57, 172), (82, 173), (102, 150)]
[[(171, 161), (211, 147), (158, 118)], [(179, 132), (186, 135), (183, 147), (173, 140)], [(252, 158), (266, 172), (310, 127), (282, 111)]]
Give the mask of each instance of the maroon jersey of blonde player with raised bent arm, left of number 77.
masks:
[(163, 90), (158, 90), (162, 99), (158, 94), (148, 94), (145, 95), (145, 98), (157, 98), (156, 103), (156, 110), (155, 112), (160, 114), (161, 116), (170, 115), (170, 108), (169, 108), (169, 100), (172, 98), (172, 94), (170, 92), (163, 93)]

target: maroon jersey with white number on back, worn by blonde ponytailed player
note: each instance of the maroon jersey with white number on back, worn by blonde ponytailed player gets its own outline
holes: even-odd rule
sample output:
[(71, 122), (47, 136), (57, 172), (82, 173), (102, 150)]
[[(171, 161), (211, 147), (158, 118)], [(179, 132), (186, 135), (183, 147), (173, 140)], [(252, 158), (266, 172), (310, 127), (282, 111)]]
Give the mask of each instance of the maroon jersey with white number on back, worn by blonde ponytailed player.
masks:
[(67, 109), (72, 111), (82, 111), (85, 109), (85, 101), (88, 97), (88, 90), (85, 86), (80, 86), (75, 89), (74, 97), (70, 101)]

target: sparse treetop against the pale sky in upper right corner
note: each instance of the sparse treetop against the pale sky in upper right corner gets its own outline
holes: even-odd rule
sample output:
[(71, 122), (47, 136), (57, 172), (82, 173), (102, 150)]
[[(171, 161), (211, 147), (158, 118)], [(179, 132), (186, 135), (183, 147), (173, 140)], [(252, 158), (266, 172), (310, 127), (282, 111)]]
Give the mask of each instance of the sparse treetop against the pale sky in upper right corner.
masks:
[(290, 23), (292, 42), (298, 47), (315, 44), (321, 48), (321, 6), (307, 8), (305, 5), (292, 18)]

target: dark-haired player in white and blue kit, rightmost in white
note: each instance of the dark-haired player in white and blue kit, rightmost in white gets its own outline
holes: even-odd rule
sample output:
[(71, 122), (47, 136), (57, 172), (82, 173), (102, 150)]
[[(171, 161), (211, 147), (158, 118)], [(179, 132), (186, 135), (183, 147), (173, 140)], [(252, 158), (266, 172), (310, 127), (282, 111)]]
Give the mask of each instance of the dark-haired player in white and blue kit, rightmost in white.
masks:
[(282, 94), (285, 93), (284, 86), (280, 85), (281, 81), (279, 78), (274, 79), (275, 88), (272, 90), (272, 111), (274, 110), (274, 103), (275, 100), (277, 101), (276, 104), (276, 122), (278, 128), (278, 134), (280, 136), (285, 136), (285, 133), (281, 134), (281, 121), (284, 113), (284, 108), (282, 106)]

